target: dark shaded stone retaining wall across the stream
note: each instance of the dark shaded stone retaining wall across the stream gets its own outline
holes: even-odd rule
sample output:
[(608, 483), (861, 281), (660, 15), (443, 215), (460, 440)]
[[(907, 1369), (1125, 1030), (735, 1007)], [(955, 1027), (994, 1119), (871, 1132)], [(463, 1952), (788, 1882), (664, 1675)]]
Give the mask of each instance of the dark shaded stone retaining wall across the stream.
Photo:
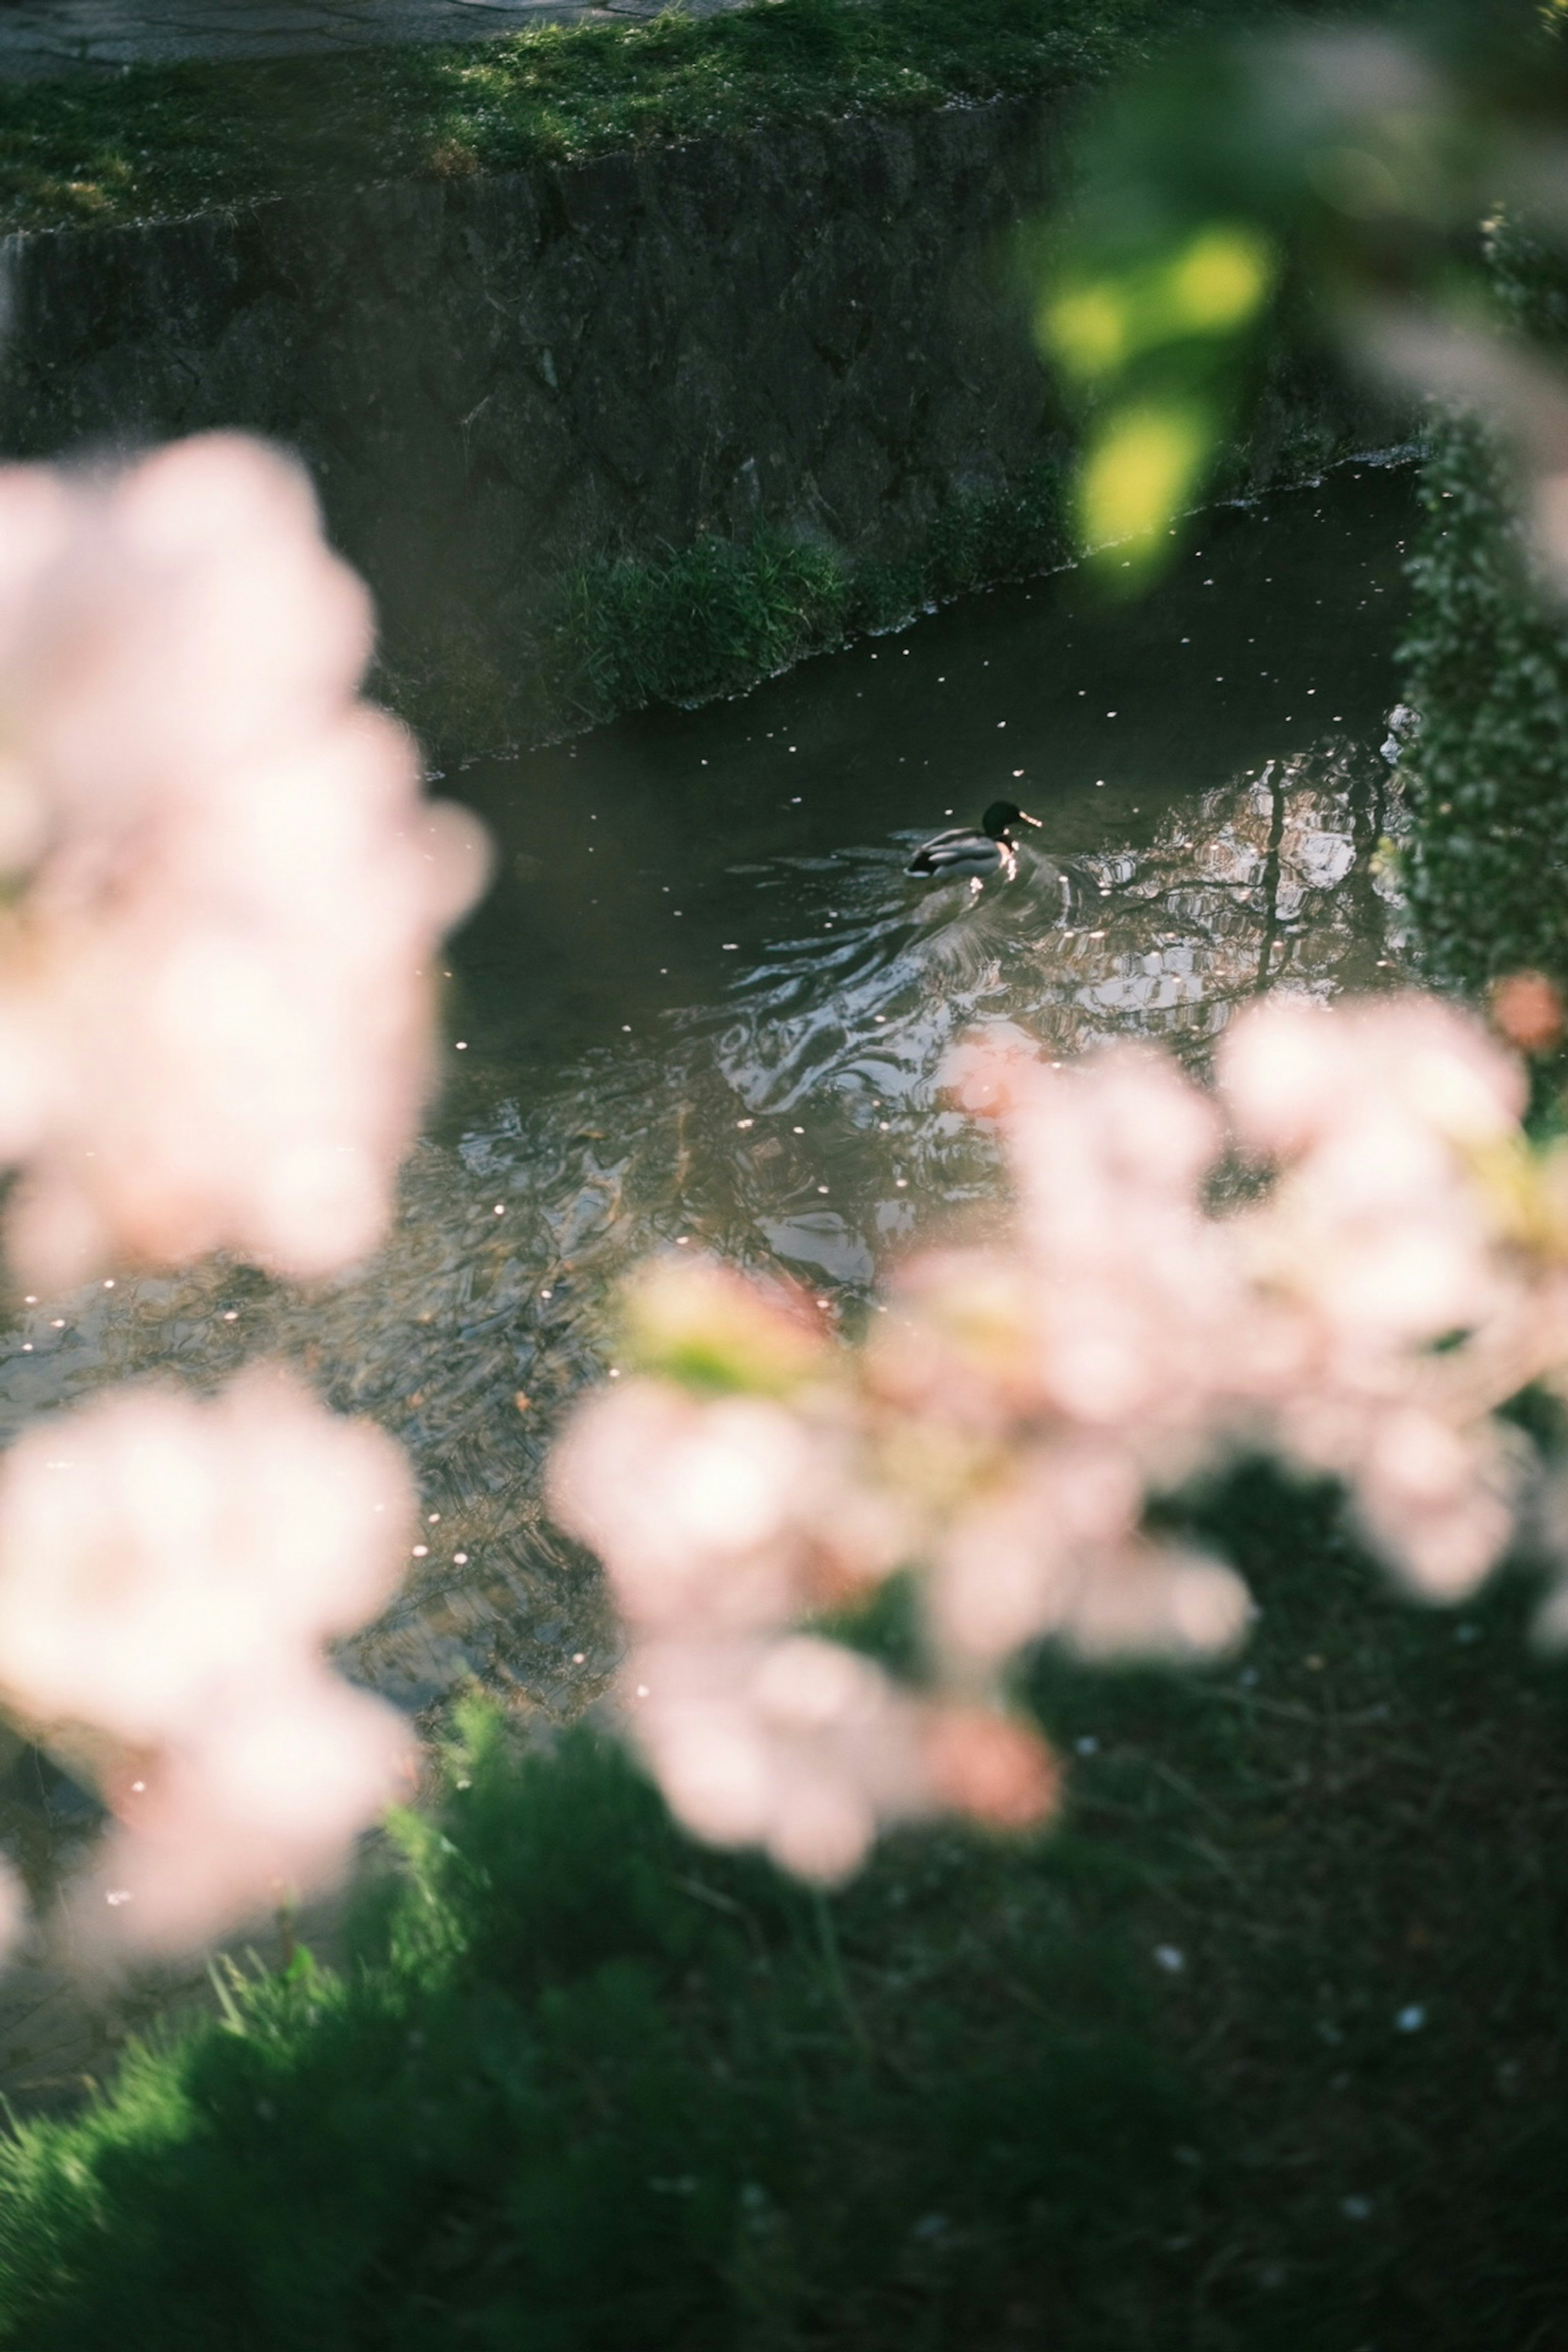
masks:
[(1004, 247), (1067, 103), (16, 235), (0, 447), (294, 445), (393, 675), (416, 701), (442, 670), (491, 703), (515, 680), (527, 724), (583, 564), (759, 524), (898, 562), (954, 499), (1060, 459)]

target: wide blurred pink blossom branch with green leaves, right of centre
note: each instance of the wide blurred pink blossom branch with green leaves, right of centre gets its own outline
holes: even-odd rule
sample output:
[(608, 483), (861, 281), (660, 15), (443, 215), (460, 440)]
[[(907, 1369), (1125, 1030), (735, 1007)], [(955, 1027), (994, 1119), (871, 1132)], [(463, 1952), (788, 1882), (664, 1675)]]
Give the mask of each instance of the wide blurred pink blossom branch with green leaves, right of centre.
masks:
[[(1516, 1025), (1542, 985), (1516, 983)], [(637, 1374), (550, 1470), (677, 1816), (827, 1882), (886, 1823), (1048, 1816), (1056, 1759), (1006, 1696), (1034, 1644), (1244, 1639), (1237, 1571), (1154, 1531), (1194, 1477), (1255, 1454), (1333, 1475), (1389, 1569), (1453, 1602), (1544, 1489), (1497, 1409), (1568, 1381), (1568, 1150), (1526, 1143), (1519, 1056), (1434, 997), (1269, 1000), (1211, 1087), (1128, 1044), (1056, 1065), (1016, 1030), (950, 1075), (1004, 1136), (1004, 1240), (910, 1258), (860, 1345), (776, 1284), (656, 1263)], [(910, 1675), (842, 1639), (891, 1578)]]

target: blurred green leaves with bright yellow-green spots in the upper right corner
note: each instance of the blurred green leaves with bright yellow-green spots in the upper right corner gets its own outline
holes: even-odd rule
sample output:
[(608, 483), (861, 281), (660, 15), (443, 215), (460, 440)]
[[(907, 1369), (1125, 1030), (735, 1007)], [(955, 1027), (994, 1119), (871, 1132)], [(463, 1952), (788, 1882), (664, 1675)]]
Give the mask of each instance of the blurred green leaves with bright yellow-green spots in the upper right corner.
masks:
[(1077, 541), (1117, 593), (1168, 562), (1269, 334), (1474, 329), (1476, 223), (1568, 103), (1563, 19), (1537, 0), (1321, 16), (1284, 38), (1227, 24), (1117, 85), (1065, 216), (1025, 254), (1039, 346), (1084, 412)]

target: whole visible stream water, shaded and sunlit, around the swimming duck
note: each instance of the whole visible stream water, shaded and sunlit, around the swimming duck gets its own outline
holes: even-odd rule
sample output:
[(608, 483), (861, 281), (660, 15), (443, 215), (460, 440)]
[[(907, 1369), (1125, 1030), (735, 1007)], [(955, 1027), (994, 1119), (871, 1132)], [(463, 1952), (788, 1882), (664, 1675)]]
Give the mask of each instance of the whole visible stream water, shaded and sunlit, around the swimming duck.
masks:
[[(1138, 602), (1060, 574), (449, 776), (498, 882), (447, 957), (449, 1084), (386, 1251), (315, 1294), (219, 1263), (24, 1305), (0, 1442), (110, 1381), (289, 1357), (409, 1449), (425, 1498), (353, 1668), (416, 1710), (477, 1679), (571, 1712), (614, 1628), (541, 1463), (614, 1367), (632, 1263), (783, 1265), (853, 1319), (917, 1235), (997, 1214), (992, 1145), (940, 1091), (978, 1023), (1201, 1061), (1260, 988), (1401, 976), (1378, 844), (1413, 522), (1408, 473), (1352, 468), (1206, 515)], [(1016, 880), (905, 877), (997, 797), (1041, 818)], [(59, 1849), (78, 1818), (40, 1759), (0, 1785), (9, 1842)]]

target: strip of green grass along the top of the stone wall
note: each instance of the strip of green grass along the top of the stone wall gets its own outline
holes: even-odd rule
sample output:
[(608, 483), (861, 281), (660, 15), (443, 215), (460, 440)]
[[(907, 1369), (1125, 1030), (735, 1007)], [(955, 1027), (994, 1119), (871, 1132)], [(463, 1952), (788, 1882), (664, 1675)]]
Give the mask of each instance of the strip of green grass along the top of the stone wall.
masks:
[(0, 228), (160, 219), (327, 181), (454, 179), (851, 108), (1103, 78), (1267, 0), (764, 0), (465, 47), (136, 66), (0, 87)]

